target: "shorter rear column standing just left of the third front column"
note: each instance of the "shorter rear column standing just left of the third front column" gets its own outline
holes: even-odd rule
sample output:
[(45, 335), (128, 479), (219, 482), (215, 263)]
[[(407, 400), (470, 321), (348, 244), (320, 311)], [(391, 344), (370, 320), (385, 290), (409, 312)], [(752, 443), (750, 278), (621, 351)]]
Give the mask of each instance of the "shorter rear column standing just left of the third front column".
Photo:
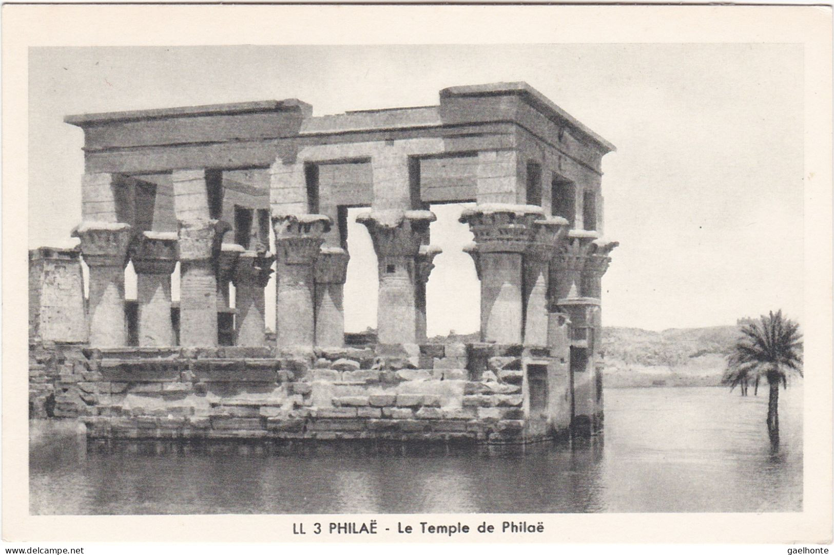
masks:
[(266, 343), (264, 321), (264, 287), (272, 274), (275, 257), (269, 252), (244, 251), (234, 266), (232, 281), (238, 319), (234, 329), (234, 344), (260, 347)]

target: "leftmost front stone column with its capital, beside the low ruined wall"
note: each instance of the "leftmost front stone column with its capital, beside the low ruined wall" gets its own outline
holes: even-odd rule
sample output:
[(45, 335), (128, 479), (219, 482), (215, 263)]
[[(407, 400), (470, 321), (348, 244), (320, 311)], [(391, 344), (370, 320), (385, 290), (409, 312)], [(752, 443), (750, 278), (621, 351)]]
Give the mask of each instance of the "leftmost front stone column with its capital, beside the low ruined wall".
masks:
[(124, 318), (124, 266), (128, 264), (130, 225), (86, 222), (73, 230), (89, 267), (89, 341), (94, 347), (127, 342)]

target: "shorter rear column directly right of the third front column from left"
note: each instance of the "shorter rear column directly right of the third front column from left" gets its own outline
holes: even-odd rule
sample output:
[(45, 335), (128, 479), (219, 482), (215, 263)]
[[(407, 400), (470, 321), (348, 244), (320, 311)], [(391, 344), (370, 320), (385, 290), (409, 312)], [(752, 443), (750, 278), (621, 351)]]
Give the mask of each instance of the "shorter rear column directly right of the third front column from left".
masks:
[(315, 344), (344, 346), (344, 280), (350, 255), (338, 247), (322, 247), (315, 261)]

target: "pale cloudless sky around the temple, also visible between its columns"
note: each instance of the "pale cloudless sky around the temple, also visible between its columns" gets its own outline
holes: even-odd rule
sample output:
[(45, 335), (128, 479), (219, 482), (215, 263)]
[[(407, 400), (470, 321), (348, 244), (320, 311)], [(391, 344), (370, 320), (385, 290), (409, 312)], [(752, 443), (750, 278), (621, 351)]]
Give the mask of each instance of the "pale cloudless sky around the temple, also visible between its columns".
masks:
[[(65, 242), (81, 218), (83, 132), (66, 114), (280, 98), (338, 114), (526, 81), (618, 149), (603, 159), (605, 235), (620, 241), (603, 278), (605, 325), (802, 317), (800, 45), (33, 48), (29, 62), (30, 248)], [(428, 285), (430, 335), (478, 326), (459, 212), (435, 209), (445, 252)], [(375, 325), (374, 255), (361, 226), (349, 238), (345, 319), (362, 330)]]

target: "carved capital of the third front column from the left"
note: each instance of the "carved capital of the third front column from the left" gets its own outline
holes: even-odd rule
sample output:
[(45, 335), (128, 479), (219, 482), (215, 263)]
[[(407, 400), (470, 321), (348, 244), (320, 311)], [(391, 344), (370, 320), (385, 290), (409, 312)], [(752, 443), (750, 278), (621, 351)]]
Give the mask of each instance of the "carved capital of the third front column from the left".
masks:
[(330, 224), (330, 218), (324, 214), (274, 216), (276, 258), (283, 264), (313, 264)]

